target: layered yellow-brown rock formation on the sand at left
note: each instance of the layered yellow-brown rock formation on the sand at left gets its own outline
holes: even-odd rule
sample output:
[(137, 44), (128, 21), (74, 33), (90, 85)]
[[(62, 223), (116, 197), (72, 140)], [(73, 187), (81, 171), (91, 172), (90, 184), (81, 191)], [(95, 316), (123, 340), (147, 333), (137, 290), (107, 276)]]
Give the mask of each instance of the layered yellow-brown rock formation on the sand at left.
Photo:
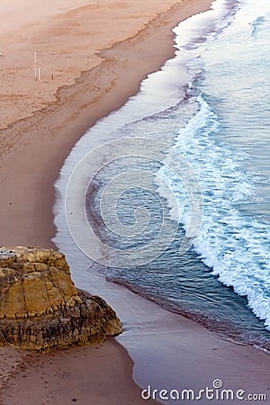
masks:
[(46, 350), (102, 342), (121, 322), (102, 298), (76, 290), (63, 254), (0, 248), (0, 345)]

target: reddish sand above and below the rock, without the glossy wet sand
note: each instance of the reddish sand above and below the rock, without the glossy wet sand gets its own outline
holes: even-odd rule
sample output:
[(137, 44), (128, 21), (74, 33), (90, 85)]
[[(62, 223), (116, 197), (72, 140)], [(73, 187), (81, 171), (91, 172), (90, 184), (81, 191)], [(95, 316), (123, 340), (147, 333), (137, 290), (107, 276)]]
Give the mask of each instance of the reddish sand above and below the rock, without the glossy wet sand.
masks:
[[(0, 245), (53, 246), (53, 184), (76, 140), (136, 94), (173, 56), (170, 29), (209, 4), (1, 0)], [(1, 405), (142, 403), (113, 340), (49, 356), (2, 347), (0, 376)]]

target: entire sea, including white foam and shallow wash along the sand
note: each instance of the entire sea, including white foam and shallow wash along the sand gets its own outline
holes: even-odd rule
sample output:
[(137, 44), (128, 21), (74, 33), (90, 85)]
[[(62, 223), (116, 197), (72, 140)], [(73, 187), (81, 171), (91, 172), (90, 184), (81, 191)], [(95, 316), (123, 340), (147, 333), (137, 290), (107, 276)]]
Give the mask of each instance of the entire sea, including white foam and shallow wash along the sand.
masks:
[[(180, 23), (175, 58), (73, 149), (55, 207), (55, 241), (67, 257), (65, 196), (92, 271), (266, 350), (269, 29), (265, 0), (217, 0)], [(88, 246), (85, 222), (98, 247)]]

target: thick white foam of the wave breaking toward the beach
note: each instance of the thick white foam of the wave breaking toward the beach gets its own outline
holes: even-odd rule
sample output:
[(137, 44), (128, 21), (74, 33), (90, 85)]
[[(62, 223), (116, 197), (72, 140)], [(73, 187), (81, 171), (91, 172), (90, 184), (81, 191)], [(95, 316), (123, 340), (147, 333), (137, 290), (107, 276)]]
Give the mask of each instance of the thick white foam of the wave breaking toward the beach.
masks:
[[(193, 166), (202, 187), (202, 227), (193, 246), (220, 282), (247, 295), (252, 311), (266, 320), (270, 329), (269, 223), (241, 212), (241, 204), (255, 191), (253, 176), (244, 171), (248, 157), (214, 140), (220, 119), (202, 95), (198, 103), (199, 112), (180, 130), (175, 143), (175, 148)], [(190, 212), (186, 195), (181, 192), (183, 185), (164, 167), (159, 175), (174, 190), (182, 207), (182, 217), (175, 220), (187, 229)]]

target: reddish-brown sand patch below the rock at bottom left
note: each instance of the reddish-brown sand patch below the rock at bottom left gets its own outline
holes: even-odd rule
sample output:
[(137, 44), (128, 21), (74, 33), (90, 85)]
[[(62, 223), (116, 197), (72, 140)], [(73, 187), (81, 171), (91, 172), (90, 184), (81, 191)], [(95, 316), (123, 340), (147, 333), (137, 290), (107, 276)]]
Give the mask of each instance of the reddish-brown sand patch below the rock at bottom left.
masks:
[[(4, 350), (8, 359), (14, 358), (11, 350)], [(145, 403), (140, 398), (141, 390), (132, 382), (130, 357), (112, 338), (102, 347), (72, 347), (58, 353), (16, 355), (16, 369), (11, 371), (8, 386), (2, 395), (0, 393), (1, 405)]]

